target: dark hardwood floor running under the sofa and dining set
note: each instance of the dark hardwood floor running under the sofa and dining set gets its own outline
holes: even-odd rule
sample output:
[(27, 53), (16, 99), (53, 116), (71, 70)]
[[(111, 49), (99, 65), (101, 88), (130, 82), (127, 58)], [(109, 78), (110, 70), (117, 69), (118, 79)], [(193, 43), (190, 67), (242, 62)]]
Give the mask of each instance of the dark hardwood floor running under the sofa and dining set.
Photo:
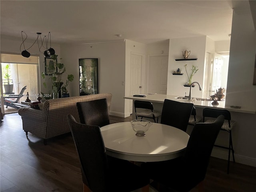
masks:
[[(111, 123), (130, 120), (131, 117), (110, 116)], [(6, 114), (0, 127), (1, 192), (83, 191), (80, 163), (71, 134), (49, 139), (47, 146), (30, 133), (28, 138), (22, 130), (20, 116)], [(204, 181), (206, 192), (256, 192), (255, 167), (231, 162), (230, 174), (226, 174), (226, 167), (226, 160), (210, 159)], [(171, 170), (168, 174), (172, 174)]]

